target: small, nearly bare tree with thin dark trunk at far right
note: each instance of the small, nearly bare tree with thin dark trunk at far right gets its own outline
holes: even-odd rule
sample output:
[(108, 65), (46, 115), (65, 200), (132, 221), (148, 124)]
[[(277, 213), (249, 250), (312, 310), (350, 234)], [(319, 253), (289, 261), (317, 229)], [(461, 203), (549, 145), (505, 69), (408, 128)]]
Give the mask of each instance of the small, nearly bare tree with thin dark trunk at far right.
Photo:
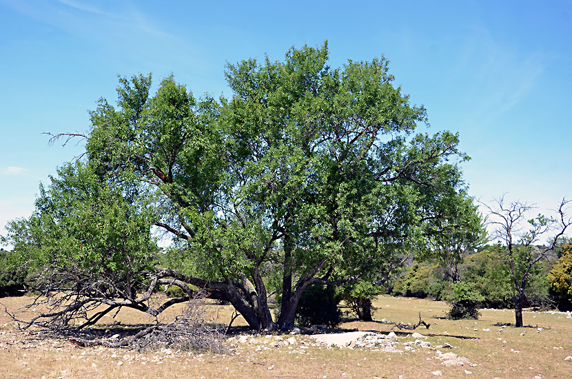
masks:
[[(566, 218), (564, 207), (569, 201), (562, 199), (558, 207), (558, 219), (539, 214), (527, 223), (529, 228), (522, 232), (521, 223), (526, 220), (532, 205), (515, 201), (507, 204), (504, 196), (496, 200), (496, 206), (489, 209), (489, 223), (496, 226), (494, 236), (504, 243), (506, 259), (509, 263), (513, 287), (513, 302), (515, 311), (515, 327), (522, 327), (522, 308), (527, 303), (527, 287), (535, 265), (547, 257), (558, 247), (559, 238), (564, 235), (566, 228), (572, 224), (572, 219)], [(547, 233), (556, 235), (548, 246), (536, 245), (540, 238)]]

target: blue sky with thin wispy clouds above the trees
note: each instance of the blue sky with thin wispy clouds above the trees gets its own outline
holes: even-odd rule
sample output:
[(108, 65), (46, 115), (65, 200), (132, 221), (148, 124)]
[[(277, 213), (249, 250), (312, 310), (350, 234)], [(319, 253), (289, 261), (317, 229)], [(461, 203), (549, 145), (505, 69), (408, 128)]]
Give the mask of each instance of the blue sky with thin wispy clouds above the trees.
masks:
[(41, 133), (87, 131), (118, 74), (229, 96), (227, 61), (326, 39), (332, 66), (385, 54), (427, 131), (460, 133), (472, 196), (572, 198), (572, 1), (0, 0), (0, 36), (0, 233), (82, 151)]

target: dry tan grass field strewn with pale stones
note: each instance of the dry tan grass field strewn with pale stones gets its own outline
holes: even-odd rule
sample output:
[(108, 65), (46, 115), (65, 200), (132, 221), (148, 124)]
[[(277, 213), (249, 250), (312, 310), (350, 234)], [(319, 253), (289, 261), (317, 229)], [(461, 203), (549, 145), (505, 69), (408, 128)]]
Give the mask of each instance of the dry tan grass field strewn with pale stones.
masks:
[[(29, 300), (0, 299), (12, 310)], [(415, 346), (415, 351), (400, 353), (327, 348), (314, 346), (309, 336), (296, 336), (296, 345), (280, 347), (274, 346), (274, 336), (252, 336), (225, 355), (82, 348), (14, 330), (6, 314), (0, 314), (0, 378), (572, 378), (572, 362), (564, 361), (572, 356), (572, 318), (566, 314), (526, 313), (528, 327), (516, 329), (501, 327), (513, 322), (510, 310), (482, 310), (480, 320), (451, 321), (445, 319), (447, 304), (441, 302), (380, 296), (375, 305), (376, 320), (414, 323), (421, 312), (431, 327), (416, 331), (427, 336), (431, 348)], [(221, 322), (229, 321), (229, 307), (210, 309)], [(104, 322), (116, 320), (121, 327), (143, 322), (145, 315), (125, 310)], [(241, 325), (240, 318), (233, 325)], [(391, 331), (384, 322), (354, 321), (341, 327)], [(393, 330), (398, 346), (413, 341), (412, 331)], [(445, 342), (453, 346), (447, 351), (467, 357), (472, 365), (442, 365), (434, 347)]]

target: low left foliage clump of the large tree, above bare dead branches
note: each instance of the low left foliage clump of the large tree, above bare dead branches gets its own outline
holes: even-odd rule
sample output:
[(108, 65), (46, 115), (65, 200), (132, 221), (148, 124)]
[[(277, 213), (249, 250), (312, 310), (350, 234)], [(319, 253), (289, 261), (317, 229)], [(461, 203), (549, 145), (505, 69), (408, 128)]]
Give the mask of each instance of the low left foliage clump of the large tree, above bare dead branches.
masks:
[(28, 272), (41, 272), (34, 286), (132, 296), (157, 251), (149, 232), (154, 213), (140, 192), (105, 181), (79, 162), (50, 180), (47, 189), (40, 187), (34, 214), (8, 225), (15, 256)]

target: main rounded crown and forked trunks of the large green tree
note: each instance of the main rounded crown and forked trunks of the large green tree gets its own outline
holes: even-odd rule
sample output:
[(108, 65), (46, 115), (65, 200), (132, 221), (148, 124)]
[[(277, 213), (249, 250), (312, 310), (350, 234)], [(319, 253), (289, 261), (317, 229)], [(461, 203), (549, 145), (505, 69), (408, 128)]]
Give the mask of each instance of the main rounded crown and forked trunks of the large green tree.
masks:
[[(141, 260), (153, 264), (134, 289), (185, 289), (167, 307), (194, 285), (254, 329), (289, 329), (309, 285), (372, 277), (398, 249), (427, 245), (439, 199), (463, 189), (467, 157), (456, 134), (414, 133), (425, 108), (394, 85), (385, 58), (331, 68), (326, 44), (304, 46), (283, 61), (228, 65), (226, 76), (232, 96), (219, 100), (197, 100), (173, 77), (154, 96), (150, 76), (121, 78), (117, 105), (101, 99), (91, 113), (90, 172), (141, 203), (121, 206), (145, 216), (141, 235), (154, 225), (173, 238), (160, 261)], [(53, 223), (66, 238), (76, 232)], [(78, 254), (53, 242), (42, 254)], [(282, 287), (276, 320), (263, 280), (272, 270)], [(126, 294), (121, 306), (148, 311), (146, 301)]]

